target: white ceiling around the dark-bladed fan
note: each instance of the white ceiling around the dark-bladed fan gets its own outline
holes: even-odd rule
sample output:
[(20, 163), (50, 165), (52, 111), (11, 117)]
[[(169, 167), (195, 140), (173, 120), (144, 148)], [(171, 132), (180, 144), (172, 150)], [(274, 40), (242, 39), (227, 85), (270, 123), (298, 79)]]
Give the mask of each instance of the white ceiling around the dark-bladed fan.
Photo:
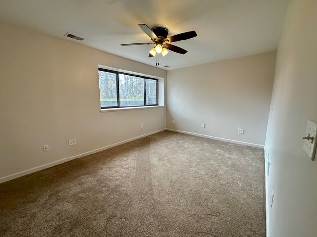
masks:
[[(289, 0), (1, 0), (0, 20), (72, 40), (138, 62), (153, 46), (138, 23), (165, 26), (170, 35), (195, 30), (197, 37), (173, 43), (170, 69), (275, 50)], [(66, 32), (85, 38), (64, 37)]]

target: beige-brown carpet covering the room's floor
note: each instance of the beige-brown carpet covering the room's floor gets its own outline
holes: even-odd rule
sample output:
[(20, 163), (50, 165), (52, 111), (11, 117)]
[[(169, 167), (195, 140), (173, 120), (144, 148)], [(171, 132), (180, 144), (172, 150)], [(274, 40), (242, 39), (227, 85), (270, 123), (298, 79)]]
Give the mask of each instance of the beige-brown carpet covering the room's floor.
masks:
[(265, 237), (264, 151), (160, 132), (0, 184), (5, 237)]

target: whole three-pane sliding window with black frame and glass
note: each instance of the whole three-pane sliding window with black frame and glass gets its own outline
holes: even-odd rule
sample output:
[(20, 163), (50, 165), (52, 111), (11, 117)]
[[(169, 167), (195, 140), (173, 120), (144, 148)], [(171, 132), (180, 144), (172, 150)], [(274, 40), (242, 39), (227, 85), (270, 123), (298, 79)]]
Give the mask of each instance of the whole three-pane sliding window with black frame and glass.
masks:
[(158, 105), (158, 79), (99, 68), (102, 109)]

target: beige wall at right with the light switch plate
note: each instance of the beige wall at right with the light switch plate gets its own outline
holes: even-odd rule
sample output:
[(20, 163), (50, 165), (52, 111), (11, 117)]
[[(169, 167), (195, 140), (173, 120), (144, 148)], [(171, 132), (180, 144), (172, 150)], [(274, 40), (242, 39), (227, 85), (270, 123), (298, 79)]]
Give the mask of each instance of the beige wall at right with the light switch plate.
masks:
[(292, 0), (278, 48), (265, 146), (268, 237), (317, 236), (317, 157), (302, 149), (307, 120), (317, 121), (316, 13), (316, 0)]

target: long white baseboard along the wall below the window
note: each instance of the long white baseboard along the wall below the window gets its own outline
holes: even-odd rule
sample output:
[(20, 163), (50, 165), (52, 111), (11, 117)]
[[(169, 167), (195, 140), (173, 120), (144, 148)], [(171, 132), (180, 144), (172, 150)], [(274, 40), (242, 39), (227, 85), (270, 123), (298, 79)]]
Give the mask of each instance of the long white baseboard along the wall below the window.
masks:
[(84, 153), (81, 153), (81, 154), (78, 154), (78, 155), (75, 155), (75, 156), (72, 156), (72, 157), (63, 158), (63, 159), (60, 159), (60, 160), (53, 161), (51, 163), (43, 164), (43, 165), (31, 168), (31, 169), (27, 169), (27, 170), (24, 170), (24, 171), (21, 171), (21, 172), (10, 174), (10, 175), (1, 177), (0, 178), (0, 183), (4, 183), (6, 181), (19, 178), (21, 176), (24, 176), (24, 175), (27, 175), (27, 174), (31, 174), (31, 173), (34, 173), (36, 171), (40, 171), (42, 169), (50, 168), (52, 166), (55, 166), (55, 165), (58, 165), (58, 164), (61, 164), (61, 163), (65, 163), (65, 162), (73, 160), (73, 159), (81, 158), (81, 157), (88, 156), (88, 155), (96, 153), (96, 152), (100, 152), (100, 151), (103, 151), (103, 150), (106, 150), (106, 149), (109, 149), (109, 148), (112, 148), (112, 147), (115, 147), (115, 146), (119, 146), (121, 144), (124, 144), (124, 143), (127, 143), (127, 142), (131, 142), (131, 141), (137, 140), (139, 138), (146, 137), (146, 136), (149, 136), (149, 135), (152, 135), (152, 134), (164, 131), (164, 130), (166, 130), (166, 129), (163, 128), (163, 129), (160, 129), (158, 131), (154, 131), (154, 132), (143, 134), (143, 135), (140, 135), (140, 136), (137, 136), (137, 137), (133, 137), (133, 138), (121, 141), (121, 142), (117, 142), (117, 143), (114, 143), (114, 144), (111, 144), (111, 145), (107, 145), (105, 147), (97, 148), (97, 149), (94, 149), (94, 150), (91, 150), (91, 151), (88, 151), (88, 152), (84, 152)]

